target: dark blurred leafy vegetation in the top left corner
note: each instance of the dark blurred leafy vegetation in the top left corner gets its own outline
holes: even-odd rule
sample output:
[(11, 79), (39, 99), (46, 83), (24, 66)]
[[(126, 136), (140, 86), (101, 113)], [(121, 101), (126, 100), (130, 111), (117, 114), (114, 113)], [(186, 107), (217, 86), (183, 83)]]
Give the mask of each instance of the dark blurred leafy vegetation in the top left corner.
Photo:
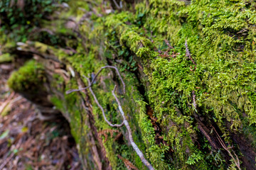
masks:
[(0, 30), (4, 31), (4, 33), (9, 33), (10, 38), (16, 42), (26, 42), (29, 33), (34, 28), (41, 28), (43, 20), (47, 19), (55, 11), (58, 4), (65, 1), (2, 0), (0, 1)]

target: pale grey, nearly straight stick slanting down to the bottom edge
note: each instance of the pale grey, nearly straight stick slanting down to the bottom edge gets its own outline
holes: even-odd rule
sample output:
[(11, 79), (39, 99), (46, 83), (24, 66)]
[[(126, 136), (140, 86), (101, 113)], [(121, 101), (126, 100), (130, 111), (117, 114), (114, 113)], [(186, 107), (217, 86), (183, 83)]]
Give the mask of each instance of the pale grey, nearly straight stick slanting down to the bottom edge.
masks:
[(142, 160), (142, 163), (150, 170), (153, 170), (153, 166), (151, 166), (151, 164), (149, 164), (149, 162), (147, 162), (147, 160), (145, 159), (144, 157), (144, 154), (141, 152), (141, 150), (139, 149), (139, 147), (135, 144), (134, 140), (133, 140), (133, 137), (132, 137), (132, 130), (129, 126), (129, 123), (127, 121), (127, 119), (125, 118), (125, 115), (124, 115), (124, 111), (122, 110), (122, 106), (121, 106), (121, 103), (120, 101), (118, 100), (117, 96), (114, 94), (114, 91), (116, 90), (116, 87), (117, 86), (114, 86), (114, 89), (112, 91), (112, 95), (114, 96), (115, 100), (117, 101), (117, 104), (118, 104), (118, 108), (119, 108), (119, 111), (120, 113), (122, 114), (122, 117), (124, 119), (123, 123), (125, 125), (125, 127), (127, 128), (127, 131), (128, 131), (128, 136), (129, 136), (129, 142), (131, 142), (132, 144), (132, 147), (134, 148), (135, 152), (138, 154), (139, 158)]

